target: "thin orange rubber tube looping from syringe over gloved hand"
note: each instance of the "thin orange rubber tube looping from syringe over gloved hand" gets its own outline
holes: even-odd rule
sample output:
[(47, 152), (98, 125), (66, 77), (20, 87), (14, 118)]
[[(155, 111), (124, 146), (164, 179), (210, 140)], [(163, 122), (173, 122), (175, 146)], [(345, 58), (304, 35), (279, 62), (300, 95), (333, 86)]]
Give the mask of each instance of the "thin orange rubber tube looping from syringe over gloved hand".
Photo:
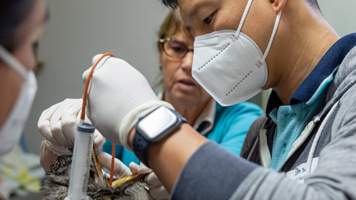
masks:
[[(101, 57), (99, 57), (99, 59), (97, 59), (95, 61), (95, 63), (93, 64), (93, 67), (91, 68), (89, 75), (87, 77), (87, 81), (85, 82), (85, 88), (84, 88), (84, 95), (83, 95), (83, 106), (82, 106), (82, 114), (80, 115), (80, 119), (84, 120), (85, 119), (85, 106), (87, 105), (87, 96), (88, 96), (88, 88), (89, 88), (89, 83), (90, 83), (90, 79), (93, 75), (94, 69), (96, 67), (96, 65), (98, 65), (99, 61), (104, 58), (105, 56), (111, 56), (111, 57), (115, 57), (112, 53), (104, 53)], [(114, 176), (114, 160), (115, 160), (115, 143), (112, 143), (112, 148), (111, 148), (111, 170), (110, 170), (110, 180), (109, 180), (109, 184), (110, 186), (112, 185), (112, 179)]]

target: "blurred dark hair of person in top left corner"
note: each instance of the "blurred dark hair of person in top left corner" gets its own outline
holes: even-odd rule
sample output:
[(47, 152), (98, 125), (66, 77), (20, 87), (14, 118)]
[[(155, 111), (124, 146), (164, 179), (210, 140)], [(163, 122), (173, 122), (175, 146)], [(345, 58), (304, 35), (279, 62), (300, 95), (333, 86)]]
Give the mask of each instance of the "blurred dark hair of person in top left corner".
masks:
[(16, 30), (30, 14), (35, 0), (0, 0), (0, 44), (10, 52), (18, 41)]

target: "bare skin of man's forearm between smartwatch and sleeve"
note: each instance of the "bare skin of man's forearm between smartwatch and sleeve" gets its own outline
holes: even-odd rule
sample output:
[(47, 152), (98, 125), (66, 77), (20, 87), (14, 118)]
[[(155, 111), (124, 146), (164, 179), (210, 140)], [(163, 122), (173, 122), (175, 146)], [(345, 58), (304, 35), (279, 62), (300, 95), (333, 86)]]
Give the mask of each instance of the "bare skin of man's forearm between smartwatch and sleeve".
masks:
[[(132, 141), (134, 132), (134, 129), (131, 130), (128, 141)], [(148, 164), (168, 191), (189, 158), (207, 141), (192, 126), (184, 123), (169, 136), (148, 147)]]

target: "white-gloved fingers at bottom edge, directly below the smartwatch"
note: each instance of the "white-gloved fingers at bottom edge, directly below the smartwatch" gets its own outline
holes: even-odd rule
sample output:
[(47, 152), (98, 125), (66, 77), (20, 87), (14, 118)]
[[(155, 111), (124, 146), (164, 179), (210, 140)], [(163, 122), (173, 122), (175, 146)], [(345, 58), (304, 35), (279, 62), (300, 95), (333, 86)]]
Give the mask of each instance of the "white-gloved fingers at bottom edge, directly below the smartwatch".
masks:
[(132, 173), (138, 173), (138, 174), (145, 174), (148, 173), (144, 177), (144, 181), (147, 184), (147, 187), (149, 188), (149, 193), (154, 199), (168, 199), (169, 198), (169, 193), (168, 191), (164, 188), (156, 174), (153, 172), (152, 169), (148, 168), (146, 165), (144, 165), (142, 162), (140, 162), (140, 165), (136, 164), (135, 162), (130, 163), (130, 170)]

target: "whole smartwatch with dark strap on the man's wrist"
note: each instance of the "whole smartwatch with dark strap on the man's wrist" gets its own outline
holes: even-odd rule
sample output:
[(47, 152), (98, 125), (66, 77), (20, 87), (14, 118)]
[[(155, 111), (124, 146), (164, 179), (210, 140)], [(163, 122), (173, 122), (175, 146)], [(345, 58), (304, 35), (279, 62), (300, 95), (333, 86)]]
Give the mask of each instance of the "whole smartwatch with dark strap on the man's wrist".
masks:
[(136, 123), (132, 140), (133, 151), (138, 159), (148, 166), (147, 147), (172, 133), (182, 122), (188, 123), (180, 113), (165, 106), (157, 107), (141, 117)]

